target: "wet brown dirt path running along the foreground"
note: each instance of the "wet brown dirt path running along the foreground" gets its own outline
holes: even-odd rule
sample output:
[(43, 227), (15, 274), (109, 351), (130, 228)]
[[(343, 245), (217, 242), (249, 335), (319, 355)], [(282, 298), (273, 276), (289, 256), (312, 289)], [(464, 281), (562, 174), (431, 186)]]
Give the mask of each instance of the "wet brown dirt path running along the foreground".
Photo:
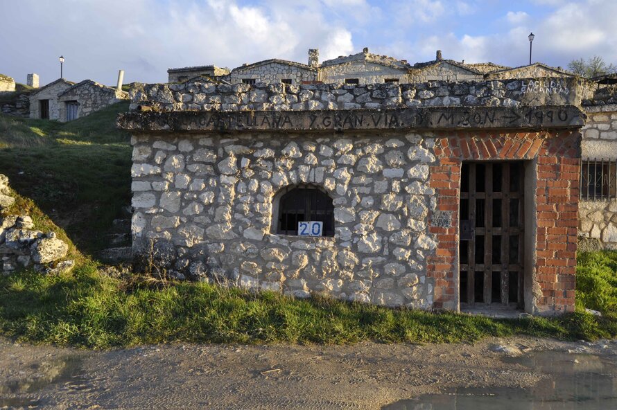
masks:
[(93, 352), (0, 339), (0, 408), (380, 409), (423, 393), (535, 386), (546, 371), (504, 358), (541, 350), (593, 353), (614, 364), (617, 342), (516, 338), (473, 345), (163, 345)]

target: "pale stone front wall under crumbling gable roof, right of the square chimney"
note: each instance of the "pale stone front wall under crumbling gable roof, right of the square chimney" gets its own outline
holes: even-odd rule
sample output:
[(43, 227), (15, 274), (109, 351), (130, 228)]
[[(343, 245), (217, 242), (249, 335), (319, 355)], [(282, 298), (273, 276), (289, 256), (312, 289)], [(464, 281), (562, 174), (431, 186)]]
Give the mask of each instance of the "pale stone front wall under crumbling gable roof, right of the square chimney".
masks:
[(336, 65), (323, 66), (320, 69), (320, 80), (322, 82), (345, 82), (346, 78), (357, 78), (359, 84), (381, 84), (385, 80), (394, 78), (401, 83), (409, 82), (407, 69), (387, 67), (374, 62), (342, 62)]

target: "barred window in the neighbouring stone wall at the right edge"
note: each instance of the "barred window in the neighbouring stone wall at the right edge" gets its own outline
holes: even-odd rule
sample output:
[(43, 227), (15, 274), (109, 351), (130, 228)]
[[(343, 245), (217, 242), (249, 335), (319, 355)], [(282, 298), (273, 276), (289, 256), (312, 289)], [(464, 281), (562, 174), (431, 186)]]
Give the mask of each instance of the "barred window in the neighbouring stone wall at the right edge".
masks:
[(580, 197), (587, 201), (617, 199), (617, 160), (584, 159), (580, 167)]

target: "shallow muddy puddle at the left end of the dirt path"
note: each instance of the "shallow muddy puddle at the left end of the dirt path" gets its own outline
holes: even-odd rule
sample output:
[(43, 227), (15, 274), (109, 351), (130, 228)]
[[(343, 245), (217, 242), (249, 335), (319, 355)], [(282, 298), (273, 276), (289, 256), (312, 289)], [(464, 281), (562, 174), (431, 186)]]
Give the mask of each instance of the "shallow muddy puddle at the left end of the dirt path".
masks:
[[(87, 378), (82, 371), (82, 359), (76, 356), (64, 356), (51, 359), (40, 364), (34, 364), (28, 369), (25, 377), (8, 380), (0, 384), (0, 395), (20, 395), (35, 393), (51, 384), (62, 384), (65, 391), (82, 391), (90, 389)], [(3, 398), (0, 397), (0, 409), (37, 407), (38, 400), (30, 398)]]

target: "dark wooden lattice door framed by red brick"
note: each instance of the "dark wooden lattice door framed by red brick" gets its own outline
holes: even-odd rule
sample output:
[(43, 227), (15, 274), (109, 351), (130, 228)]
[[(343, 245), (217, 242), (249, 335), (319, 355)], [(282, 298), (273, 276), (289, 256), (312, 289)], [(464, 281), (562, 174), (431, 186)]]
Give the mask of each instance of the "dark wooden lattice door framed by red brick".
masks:
[(462, 165), (462, 310), (523, 307), (523, 172), (521, 162)]

